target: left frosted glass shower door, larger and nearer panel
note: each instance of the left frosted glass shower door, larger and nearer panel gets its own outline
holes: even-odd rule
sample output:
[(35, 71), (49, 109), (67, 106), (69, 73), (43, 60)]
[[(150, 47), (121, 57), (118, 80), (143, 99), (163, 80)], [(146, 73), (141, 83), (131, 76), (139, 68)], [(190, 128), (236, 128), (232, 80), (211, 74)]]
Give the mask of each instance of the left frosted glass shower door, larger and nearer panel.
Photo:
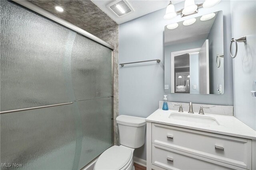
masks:
[[(76, 32), (14, 2), (0, 10), (1, 111), (74, 101), (66, 58)], [(74, 104), (1, 114), (1, 163), (11, 164), (1, 169), (72, 169), (76, 115)]]

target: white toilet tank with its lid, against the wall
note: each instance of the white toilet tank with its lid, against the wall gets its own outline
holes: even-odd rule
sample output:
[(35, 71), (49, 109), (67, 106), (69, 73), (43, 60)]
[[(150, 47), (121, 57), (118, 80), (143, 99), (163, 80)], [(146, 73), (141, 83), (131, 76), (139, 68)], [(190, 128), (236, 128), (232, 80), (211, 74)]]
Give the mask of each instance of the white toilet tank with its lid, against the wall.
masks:
[(120, 115), (116, 117), (119, 143), (130, 148), (139, 148), (145, 143), (146, 121), (142, 117)]

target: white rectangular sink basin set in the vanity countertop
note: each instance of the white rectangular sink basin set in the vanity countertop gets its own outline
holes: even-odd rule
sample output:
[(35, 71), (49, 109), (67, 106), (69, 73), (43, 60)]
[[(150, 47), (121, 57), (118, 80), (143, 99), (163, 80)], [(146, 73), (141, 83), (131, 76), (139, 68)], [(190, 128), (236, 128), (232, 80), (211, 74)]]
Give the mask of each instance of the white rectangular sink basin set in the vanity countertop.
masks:
[(170, 113), (169, 119), (201, 123), (206, 125), (220, 125), (220, 123), (214, 117), (208, 117), (204, 115), (194, 115), (194, 114), (188, 115), (186, 113)]

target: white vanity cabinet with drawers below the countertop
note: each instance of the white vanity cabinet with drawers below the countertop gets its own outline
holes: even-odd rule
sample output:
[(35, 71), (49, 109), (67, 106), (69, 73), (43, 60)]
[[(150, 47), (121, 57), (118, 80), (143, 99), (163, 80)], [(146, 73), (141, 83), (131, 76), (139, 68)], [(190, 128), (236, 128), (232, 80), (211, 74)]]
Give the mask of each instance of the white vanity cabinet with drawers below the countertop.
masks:
[(147, 169), (252, 170), (252, 140), (147, 122)]

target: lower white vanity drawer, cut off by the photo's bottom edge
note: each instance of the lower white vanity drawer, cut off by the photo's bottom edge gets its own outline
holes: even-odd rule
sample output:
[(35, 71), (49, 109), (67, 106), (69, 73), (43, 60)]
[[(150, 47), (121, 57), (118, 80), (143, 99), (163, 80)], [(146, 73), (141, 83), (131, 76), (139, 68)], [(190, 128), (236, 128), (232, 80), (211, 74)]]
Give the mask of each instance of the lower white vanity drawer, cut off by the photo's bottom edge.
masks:
[(167, 170), (245, 170), (155, 144), (152, 144), (152, 164)]

